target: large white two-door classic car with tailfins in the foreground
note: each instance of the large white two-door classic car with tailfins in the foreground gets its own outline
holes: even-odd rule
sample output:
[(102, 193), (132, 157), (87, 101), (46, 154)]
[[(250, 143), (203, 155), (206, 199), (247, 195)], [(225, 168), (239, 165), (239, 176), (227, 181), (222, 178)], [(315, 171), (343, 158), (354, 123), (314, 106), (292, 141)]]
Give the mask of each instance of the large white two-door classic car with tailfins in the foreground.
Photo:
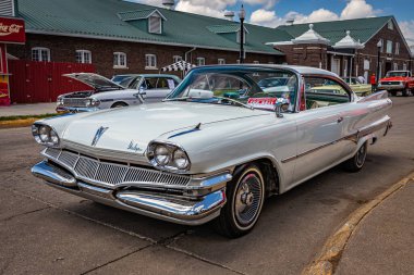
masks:
[[(289, 91), (264, 91), (257, 84), (269, 77), (289, 78)], [(346, 93), (312, 91), (327, 79)], [(151, 217), (215, 220), (239, 237), (254, 227), (266, 197), (340, 163), (360, 171), (368, 147), (391, 127), (391, 105), (386, 92), (358, 98), (319, 68), (203, 66), (165, 102), (36, 122), (33, 135), (46, 148), (32, 173)]]

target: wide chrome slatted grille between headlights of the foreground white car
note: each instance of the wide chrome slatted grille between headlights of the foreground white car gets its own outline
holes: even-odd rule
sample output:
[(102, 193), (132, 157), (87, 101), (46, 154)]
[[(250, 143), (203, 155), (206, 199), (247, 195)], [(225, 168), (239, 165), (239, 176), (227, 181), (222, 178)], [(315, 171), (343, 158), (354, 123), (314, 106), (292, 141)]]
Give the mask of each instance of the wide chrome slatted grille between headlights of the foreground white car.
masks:
[(115, 187), (123, 184), (184, 187), (190, 176), (170, 174), (157, 170), (112, 163), (68, 150), (47, 148), (42, 154), (68, 168), (75, 177), (98, 185)]

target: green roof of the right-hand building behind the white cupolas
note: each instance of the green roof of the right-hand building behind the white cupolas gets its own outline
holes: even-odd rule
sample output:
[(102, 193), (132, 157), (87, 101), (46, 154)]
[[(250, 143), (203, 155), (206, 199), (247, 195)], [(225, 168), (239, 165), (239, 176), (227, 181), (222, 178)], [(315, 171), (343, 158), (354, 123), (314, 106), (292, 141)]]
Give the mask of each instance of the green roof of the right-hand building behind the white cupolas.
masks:
[[(319, 35), (330, 40), (330, 45), (334, 45), (336, 42), (341, 40), (346, 35), (346, 30), (351, 32), (352, 38), (354, 38), (355, 40), (360, 40), (362, 43), (365, 43), (392, 18), (393, 16), (381, 16), (357, 20), (317, 22), (313, 24), (314, 29)], [(279, 26), (277, 27), (277, 29), (283, 30), (291, 37), (295, 38), (307, 32), (309, 29), (309, 24)], [(276, 40), (272, 42), (287, 40)]]

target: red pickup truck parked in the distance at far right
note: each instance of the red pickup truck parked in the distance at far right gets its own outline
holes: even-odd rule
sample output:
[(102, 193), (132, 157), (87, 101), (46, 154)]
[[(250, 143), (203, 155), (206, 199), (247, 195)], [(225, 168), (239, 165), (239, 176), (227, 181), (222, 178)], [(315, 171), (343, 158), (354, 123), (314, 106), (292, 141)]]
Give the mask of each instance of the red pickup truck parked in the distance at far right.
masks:
[(402, 91), (402, 95), (407, 97), (414, 92), (414, 77), (410, 71), (390, 71), (386, 77), (379, 79), (377, 88), (388, 90), (392, 96)]

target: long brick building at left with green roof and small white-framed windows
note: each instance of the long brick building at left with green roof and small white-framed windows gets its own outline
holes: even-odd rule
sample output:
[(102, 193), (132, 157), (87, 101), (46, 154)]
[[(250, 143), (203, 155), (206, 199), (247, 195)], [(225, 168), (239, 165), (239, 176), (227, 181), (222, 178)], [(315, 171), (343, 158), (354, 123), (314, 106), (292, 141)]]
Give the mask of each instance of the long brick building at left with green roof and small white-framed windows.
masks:
[[(160, 0), (161, 2), (161, 0)], [(19, 0), (27, 42), (17, 59), (93, 63), (107, 77), (158, 73), (174, 61), (236, 63), (240, 24), (121, 0)], [(245, 24), (246, 62), (282, 63), (271, 28)]]

